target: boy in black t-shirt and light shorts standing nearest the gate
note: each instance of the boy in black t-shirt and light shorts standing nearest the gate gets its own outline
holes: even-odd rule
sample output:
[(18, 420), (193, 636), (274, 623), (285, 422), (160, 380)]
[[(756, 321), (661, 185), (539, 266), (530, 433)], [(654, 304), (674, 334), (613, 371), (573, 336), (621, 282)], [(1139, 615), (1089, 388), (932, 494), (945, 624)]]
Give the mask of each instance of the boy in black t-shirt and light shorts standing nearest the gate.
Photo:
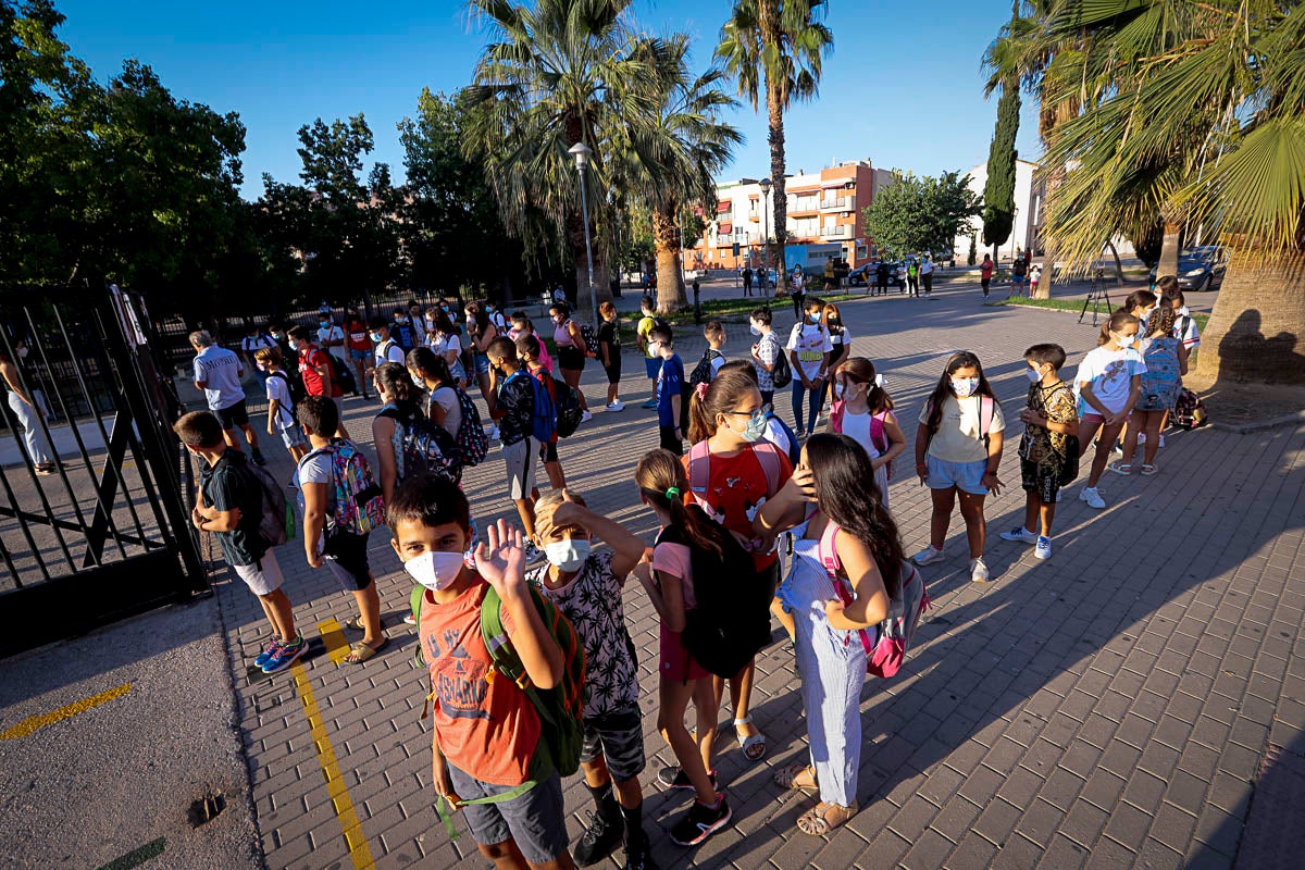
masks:
[(281, 588), (284, 578), (277, 552), (258, 532), (264, 484), (249, 470), (245, 455), (226, 442), (222, 423), (213, 413), (192, 411), (176, 421), (174, 430), (187, 451), (204, 460), (191, 523), (217, 536), (222, 558), (257, 596), (271, 627), (271, 640), (253, 664), (264, 673), (284, 670), (304, 655), (308, 642), (295, 629), (294, 605)]

